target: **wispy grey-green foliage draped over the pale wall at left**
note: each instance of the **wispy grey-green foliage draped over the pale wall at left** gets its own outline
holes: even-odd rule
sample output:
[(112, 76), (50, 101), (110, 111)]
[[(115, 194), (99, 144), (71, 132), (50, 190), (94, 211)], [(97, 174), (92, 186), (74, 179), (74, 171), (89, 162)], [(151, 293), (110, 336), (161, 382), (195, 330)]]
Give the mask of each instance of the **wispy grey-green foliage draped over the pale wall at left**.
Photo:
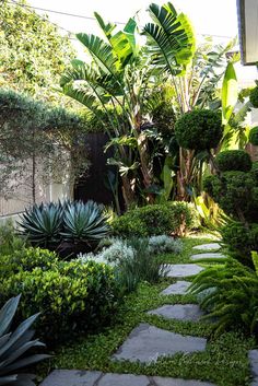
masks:
[[(27, 186), (34, 191), (36, 177), (47, 185), (67, 179), (67, 175), (72, 182), (85, 173), (84, 125), (81, 116), (62, 107), (0, 90), (1, 194), (10, 196), (22, 184), (26, 191)], [(30, 199), (35, 201), (35, 197), (26, 197)]]

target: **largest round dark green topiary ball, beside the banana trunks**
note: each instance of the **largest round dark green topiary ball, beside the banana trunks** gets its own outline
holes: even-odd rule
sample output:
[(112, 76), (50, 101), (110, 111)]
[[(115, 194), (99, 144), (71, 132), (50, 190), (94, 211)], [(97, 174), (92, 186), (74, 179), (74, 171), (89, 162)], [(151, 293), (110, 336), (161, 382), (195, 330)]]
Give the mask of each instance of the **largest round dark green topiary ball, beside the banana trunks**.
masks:
[(186, 113), (175, 125), (177, 142), (181, 148), (189, 150), (214, 149), (222, 133), (221, 114), (208, 109)]

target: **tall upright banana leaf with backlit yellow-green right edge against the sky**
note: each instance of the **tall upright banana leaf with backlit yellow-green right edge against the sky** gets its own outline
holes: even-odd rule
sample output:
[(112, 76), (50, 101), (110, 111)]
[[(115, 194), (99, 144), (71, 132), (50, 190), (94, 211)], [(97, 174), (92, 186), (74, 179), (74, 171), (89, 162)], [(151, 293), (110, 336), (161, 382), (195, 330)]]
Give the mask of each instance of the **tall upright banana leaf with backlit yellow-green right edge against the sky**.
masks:
[(153, 23), (148, 23), (143, 34), (148, 38), (155, 66), (175, 75), (184, 70), (195, 51), (195, 36), (187, 16), (177, 14), (172, 3), (149, 7)]

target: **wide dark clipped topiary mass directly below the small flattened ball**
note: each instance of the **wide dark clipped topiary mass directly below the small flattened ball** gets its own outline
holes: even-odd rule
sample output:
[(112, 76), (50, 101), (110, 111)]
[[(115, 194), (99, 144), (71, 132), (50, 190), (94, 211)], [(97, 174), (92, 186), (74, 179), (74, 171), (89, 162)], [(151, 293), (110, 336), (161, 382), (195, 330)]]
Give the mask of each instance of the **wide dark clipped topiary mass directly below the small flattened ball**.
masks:
[(251, 173), (231, 171), (220, 177), (209, 176), (203, 182), (204, 190), (233, 219), (245, 222), (258, 221), (257, 184)]

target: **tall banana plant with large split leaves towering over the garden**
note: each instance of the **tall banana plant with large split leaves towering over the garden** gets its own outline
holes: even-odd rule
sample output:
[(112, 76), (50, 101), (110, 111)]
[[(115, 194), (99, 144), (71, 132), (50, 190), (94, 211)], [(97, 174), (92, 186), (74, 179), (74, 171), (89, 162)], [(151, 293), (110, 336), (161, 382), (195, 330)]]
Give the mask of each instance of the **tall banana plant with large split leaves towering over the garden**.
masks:
[[(163, 25), (166, 26), (169, 55), (165, 63), (175, 74), (180, 73), (189, 62), (194, 48), (189, 23), (185, 15), (176, 13), (171, 3), (162, 7), (152, 4), (150, 9), (156, 17), (161, 15)], [(73, 60), (71, 68), (62, 75), (60, 85), (66, 95), (82, 103), (96, 118), (99, 112), (105, 112), (106, 120), (98, 122), (106, 129), (108, 121), (112, 128), (108, 136), (116, 147), (115, 163), (122, 172), (122, 194), (126, 204), (129, 206), (136, 199), (137, 182), (140, 182), (145, 191), (153, 184), (152, 159), (142, 126), (148, 120), (144, 106), (150, 89), (154, 86), (153, 79), (164, 60), (157, 51), (150, 54), (149, 43), (139, 45), (134, 19), (130, 19), (122, 31), (117, 31), (116, 24), (105, 23), (97, 13), (95, 17), (104, 38), (77, 34), (91, 62)], [(156, 26), (150, 23), (150, 30), (156, 30)], [(125, 136), (136, 139), (136, 150), (119, 141)], [(118, 141), (114, 142), (114, 138)], [(148, 200), (152, 199), (149, 195)]]

